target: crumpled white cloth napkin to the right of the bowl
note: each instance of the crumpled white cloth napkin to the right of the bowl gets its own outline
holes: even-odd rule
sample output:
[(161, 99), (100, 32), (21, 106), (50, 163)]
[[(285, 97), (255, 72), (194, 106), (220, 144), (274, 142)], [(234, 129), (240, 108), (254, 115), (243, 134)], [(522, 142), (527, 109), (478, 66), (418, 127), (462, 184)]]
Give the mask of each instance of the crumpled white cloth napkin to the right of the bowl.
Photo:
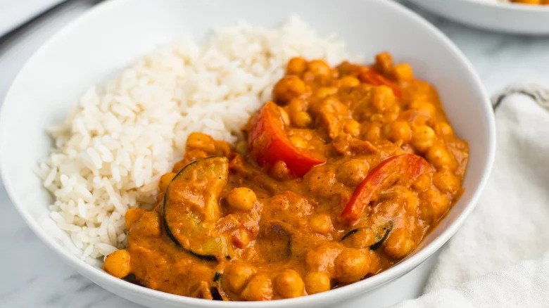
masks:
[(496, 162), (477, 209), (443, 248), (416, 307), (549, 307), (549, 90), (495, 98)]

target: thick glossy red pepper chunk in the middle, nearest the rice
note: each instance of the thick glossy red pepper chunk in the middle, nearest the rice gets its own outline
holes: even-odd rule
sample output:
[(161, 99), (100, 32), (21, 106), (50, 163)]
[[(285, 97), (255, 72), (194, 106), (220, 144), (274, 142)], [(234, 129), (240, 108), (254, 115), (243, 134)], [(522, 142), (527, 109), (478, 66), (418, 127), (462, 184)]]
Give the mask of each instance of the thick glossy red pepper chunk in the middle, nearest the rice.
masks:
[(284, 132), (279, 107), (273, 102), (265, 103), (253, 118), (248, 134), (248, 148), (259, 165), (272, 167), (282, 160), (290, 172), (298, 177), (303, 177), (315, 165), (326, 161), (290, 142)]

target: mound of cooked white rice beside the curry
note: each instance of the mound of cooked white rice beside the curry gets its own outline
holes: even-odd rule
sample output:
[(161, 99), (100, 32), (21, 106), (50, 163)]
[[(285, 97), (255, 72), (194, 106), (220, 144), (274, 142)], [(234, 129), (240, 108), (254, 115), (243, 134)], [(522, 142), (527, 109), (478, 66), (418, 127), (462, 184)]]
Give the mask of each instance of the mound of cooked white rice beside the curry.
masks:
[(205, 44), (155, 51), (92, 86), (50, 130), (55, 148), (37, 170), (54, 199), (44, 228), (90, 263), (124, 248), (126, 210), (155, 202), (158, 179), (182, 158), (189, 133), (235, 141), (292, 56), (331, 65), (348, 58), (341, 42), (295, 17), (274, 30), (239, 23)]

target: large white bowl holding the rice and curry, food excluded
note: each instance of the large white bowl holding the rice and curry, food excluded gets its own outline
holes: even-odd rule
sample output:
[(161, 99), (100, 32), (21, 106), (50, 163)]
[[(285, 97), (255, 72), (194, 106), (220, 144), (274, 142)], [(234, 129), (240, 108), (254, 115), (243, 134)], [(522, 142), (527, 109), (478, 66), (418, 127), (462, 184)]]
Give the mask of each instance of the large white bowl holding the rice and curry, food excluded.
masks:
[[(32, 172), (47, 155), (44, 129), (58, 123), (84, 89), (104, 81), (159, 44), (244, 19), (272, 27), (298, 13), (321, 34), (336, 32), (351, 51), (371, 57), (388, 50), (438, 89), (456, 133), (469, 141), (465, 193), (410, 257), (383, 273), (326, 293), (272, 302), (215, 302), (161, 293), (114, 278), (56, 243), (40, 224), (51, 197)], [(412, 40), (413, 39), (413, 40)], [(406, 8), (386, 0), (113, 0), (61, 30), (15, 78), (0, 116), (0, 167), (15, 207), (37, 236), (84, 276), (149, 307), (325, 307), (364, 295), (423, 262), (453, 236), (474, 208), (495, 150), (493, 113), (479, 77), (450, 40)], [(37, 256), (38, 258), (39, 256)]]

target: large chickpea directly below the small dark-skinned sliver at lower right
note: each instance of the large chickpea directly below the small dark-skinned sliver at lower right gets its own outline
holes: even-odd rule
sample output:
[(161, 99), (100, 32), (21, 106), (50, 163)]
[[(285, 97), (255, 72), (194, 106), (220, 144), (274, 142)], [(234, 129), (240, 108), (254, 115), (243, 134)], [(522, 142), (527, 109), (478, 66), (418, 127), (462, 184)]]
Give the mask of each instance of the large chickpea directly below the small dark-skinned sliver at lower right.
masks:
[(341, 283), (359, 281), (368, 274), (370, 257), (358, 249), (343, 250), (334, 261), (336, 279)]

